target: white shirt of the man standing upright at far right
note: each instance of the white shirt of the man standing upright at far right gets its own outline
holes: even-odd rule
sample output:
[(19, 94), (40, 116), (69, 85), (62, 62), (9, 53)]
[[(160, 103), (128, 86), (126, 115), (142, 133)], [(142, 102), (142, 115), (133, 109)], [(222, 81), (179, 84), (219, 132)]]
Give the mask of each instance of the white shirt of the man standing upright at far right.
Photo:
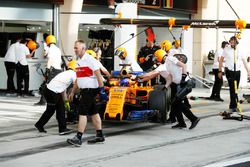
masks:
[(234, 71), (234, 54), (236, 54), (236, 71), (240, 71), (242, 60), (245, 59), (245, 55), (242, 51), (240, 51), (238, 46), (236, 48), (236, 52), (234, 52), (235, 51), (231, 46), (228, 46), (224, 49), (222, 57), (224, 57), (225, 67), (231, 71)]

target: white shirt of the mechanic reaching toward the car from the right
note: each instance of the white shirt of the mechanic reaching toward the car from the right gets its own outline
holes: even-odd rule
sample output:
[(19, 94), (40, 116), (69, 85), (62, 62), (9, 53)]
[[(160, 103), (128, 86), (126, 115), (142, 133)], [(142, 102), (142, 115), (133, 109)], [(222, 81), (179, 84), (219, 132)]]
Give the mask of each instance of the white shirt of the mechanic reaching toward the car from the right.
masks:
[(182, 77), (182, 68), (177, 65), (178, 59), (176, 57), (168, 56), (165, 60), (166, 71), (172, 76), (172, 82), (179, 84)]

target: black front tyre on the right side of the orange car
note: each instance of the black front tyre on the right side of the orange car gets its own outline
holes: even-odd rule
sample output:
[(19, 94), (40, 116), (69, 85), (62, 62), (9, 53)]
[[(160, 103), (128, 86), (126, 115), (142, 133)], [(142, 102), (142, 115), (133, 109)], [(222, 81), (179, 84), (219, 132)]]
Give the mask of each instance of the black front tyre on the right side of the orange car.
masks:
[(162, 123), (166, 123), (168, 117), (168, 110), (170, 108), (168, 89), (165, 90), (153, 90), (149, 93), (148, 108), (150, 110), (158, 110), (158, 120)]

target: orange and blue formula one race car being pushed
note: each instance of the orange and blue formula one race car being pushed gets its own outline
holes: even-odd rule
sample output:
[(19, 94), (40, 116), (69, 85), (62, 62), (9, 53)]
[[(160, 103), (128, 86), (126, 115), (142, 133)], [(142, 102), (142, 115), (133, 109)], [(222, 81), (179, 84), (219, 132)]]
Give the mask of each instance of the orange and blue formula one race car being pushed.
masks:
[(114, 71), (109, 79), (109, 101), (99, 110), (104, 120), (152, 120), (166, 122), (170, 109), (170, 90), (164, 85), (143, 86), (132, 80), (131, 75), (143, 72), (129, 72), (124, 67)]

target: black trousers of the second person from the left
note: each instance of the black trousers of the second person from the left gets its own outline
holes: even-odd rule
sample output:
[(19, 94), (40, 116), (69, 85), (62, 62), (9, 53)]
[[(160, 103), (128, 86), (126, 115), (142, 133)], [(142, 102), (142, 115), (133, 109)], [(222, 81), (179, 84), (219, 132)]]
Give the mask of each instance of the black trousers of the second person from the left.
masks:
[(29, 66), (17, 63), (16, 65), (17, 74), (17, 93), (22, 94), (22, 83), (24, 82), (24, 94), (29, 94)]

